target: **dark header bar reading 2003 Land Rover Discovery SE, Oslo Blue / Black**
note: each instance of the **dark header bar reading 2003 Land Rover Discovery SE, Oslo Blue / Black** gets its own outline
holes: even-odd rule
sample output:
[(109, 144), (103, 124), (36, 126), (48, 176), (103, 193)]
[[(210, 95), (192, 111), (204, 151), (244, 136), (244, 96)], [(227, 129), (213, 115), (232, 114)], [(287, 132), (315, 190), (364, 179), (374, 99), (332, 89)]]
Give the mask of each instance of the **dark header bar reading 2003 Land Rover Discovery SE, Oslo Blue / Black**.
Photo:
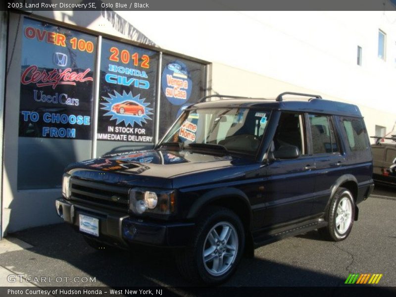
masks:
[[(0, 9), (141, 11), (247, 11), (247, 10), (393, 10), (396, 0), (5, 0)], [(5, 6), (5, 7), (1, 7)]]

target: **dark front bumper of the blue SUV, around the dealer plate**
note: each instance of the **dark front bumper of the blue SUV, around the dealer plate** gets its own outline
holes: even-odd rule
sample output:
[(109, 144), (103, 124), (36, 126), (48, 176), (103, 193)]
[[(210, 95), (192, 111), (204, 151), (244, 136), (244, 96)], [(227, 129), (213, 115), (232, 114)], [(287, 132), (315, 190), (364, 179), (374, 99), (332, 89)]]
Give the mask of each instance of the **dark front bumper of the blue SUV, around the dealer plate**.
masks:
[[(79, 214), (88, 215), (99, 220), (100, 242), (128, 248), (129, 245), (143, 244), (159, 247), (185, 247), (193, 235), (194, 223), (151, 222), (131, 217), (126, 213), (92, 205), (70, 202), (58, 198), (55, 202), (56, 212), (67, 223), (79, 228)], [(89, 234), (82, 233), (85, 236)]]

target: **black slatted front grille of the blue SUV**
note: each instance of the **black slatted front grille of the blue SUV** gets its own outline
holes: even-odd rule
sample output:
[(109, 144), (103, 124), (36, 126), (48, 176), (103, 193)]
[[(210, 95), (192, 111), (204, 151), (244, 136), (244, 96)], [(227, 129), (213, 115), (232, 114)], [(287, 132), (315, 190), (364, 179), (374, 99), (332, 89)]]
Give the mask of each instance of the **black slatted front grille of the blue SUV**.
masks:
[(128, 212), (129, 188), (72, 178), (71, 199), (117, 211)]

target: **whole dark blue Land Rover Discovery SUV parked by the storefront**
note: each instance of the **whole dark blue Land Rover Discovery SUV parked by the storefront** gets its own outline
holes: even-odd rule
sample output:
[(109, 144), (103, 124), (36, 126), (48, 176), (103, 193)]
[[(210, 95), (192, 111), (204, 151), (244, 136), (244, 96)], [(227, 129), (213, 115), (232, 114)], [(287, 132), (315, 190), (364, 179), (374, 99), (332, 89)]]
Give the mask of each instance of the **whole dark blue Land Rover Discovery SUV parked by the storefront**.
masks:
[(314, 229), (346, 239), (372, 173), (357, 106), (216, 95), (153, 150), (71, 164), (56, 210), (93, 247), (172, 247), (184, 277), (218, 284), (255, 247)]

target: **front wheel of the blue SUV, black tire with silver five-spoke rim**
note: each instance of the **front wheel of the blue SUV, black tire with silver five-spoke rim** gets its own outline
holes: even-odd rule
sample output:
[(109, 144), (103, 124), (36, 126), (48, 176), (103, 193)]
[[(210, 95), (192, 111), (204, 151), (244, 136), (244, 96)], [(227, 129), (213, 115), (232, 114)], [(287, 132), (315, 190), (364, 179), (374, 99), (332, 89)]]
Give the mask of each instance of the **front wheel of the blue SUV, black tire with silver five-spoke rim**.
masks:
[(176, 264), (190, 282), (221, 284), (236, 271), (242, 258), (244, 226), (234, 212), (224, 207), (207, 209), (197, 222), (193, 241), (176, 254)]

